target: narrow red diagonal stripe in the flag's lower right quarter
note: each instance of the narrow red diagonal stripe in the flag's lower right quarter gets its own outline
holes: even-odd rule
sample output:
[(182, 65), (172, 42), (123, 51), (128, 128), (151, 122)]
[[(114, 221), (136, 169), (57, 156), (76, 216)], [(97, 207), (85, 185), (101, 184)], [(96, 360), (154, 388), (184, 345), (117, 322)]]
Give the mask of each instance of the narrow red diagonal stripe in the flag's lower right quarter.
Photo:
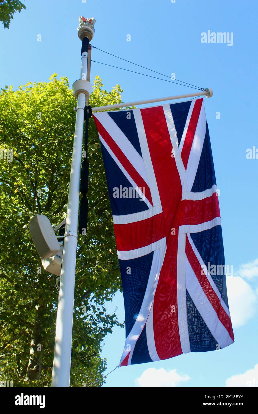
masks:
[(222, 308), (220, 300), (219, 300), (218, 296), (216, 295), (215, 291), (212, 289), (212, 286), (211, 286), (209, 280), (207, 279), (206, 275), (205, 274), (203, 275), (201, 273), (203, 269), (202, 269), (202, 267), (199, 263), (199, 260), (195, 256), (193, 248), (190, 245), (190, 242), (188, 240), (188, 237), (186, 237), (186, 255), (187, 255), (187, 258), (189, 260), (189, 263), (190, 263), (191, 267), (193, 268), (193, 271), (196, 274), (196, 277), (197, 277), (200, 285), (202, 286), (202, 289), (203, 289), (205, 295), (207, 296), (207, 298), (209, 299), (212, 307), (214, 308), (215, 312), (217, 313), (220, 322), (227, 329), (231, 339), (234, 341), (234, 334), (233, 334), (232, 324), (231, 324), (231, 320), (229, 318), (229, 315), (227, 315), (225, 310)]

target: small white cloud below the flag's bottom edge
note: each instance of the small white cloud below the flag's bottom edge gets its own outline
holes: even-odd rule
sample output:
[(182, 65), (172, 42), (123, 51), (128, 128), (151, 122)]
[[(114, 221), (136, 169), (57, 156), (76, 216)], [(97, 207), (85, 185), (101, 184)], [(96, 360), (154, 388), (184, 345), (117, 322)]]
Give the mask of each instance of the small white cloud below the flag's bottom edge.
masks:
[(176, 387), (184, 381), (189, 381), (188, 375), (180, 375), (176, 369), (165, 371), (164, 368), (148, 368), (140, 378), (135, 380), (138, 387)]

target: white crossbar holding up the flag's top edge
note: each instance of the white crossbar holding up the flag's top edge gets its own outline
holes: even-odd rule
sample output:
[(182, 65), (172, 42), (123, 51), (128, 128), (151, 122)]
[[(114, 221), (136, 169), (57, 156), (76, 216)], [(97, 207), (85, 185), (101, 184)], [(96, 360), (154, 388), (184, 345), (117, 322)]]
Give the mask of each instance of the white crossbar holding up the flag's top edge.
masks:
[(145, 103), (172, 101), (174, 99), (194, 98), (195, 96), (203, 96), (203, 95), (207, 96), (207, 98), (210, 98), (213, 95), (212, 89), (205, 88), (203, 91), (195, 92), (193, 94), (166, 96), (165, 98), (145, 99), (145, 101), (135, 101), (135, 102), (127, 102), (127, 103), (116, 103), (115, 105), (97, 106), (96, 108), (92, 108), (92, 112), (111, 111), (112, 109), (124, 108), (126, 106), (137, 106), (137, 105), (144, 105)]

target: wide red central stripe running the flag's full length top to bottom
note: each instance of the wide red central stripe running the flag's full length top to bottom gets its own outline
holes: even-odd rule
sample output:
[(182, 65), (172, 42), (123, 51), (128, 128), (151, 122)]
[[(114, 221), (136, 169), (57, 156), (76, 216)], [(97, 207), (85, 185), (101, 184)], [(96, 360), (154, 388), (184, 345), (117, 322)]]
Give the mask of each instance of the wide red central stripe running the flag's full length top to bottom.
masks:
[[(171, 157), (172, 144), (163, 107), (141, 109), (141, 114), (166, 226), (166, 255), (154, 296), (153, 332), (159, 358), (167, 359), (182, 354), (177, 314), (176, 222), (182, 187), (175, 159)], [(172, 227), (176, 234), (171, 235)]]

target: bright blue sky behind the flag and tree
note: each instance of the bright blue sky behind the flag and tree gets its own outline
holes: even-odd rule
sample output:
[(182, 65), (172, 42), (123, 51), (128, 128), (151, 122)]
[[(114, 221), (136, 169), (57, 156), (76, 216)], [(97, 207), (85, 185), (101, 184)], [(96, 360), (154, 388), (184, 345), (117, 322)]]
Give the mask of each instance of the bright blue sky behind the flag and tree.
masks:
[[(257, 12), (256, 1), (217, 0), (27, 0), (27, 10), (15, 14), (7, 30), (0, 27), (0, 84), (17, 88), (29, 81), (48, 81), (53, 72), (68, 76), (70, 85), (80, 75), (78, 17), (96, 18), (92, 44), (158, 72), (212, 87), (205, 99), (210, 129), (228, 279), (229, 307), (235, 344), (226, 349), (186, 354), (167, 361), (121, 367), (106, 385), (244, 385), (258, 381), (258, 159), (246, 159), (248, 148), (258, 149)], [(233, 45), (202, 43), (201, 33), (233, 33)], [(37, 41), (41, 34), (42, 41)], [(131, 41), (126, 41), (130, 34)], [(92, 59), (144, 71), (93, 49)], [(140, 70), (139, 70), (140, 69)], [(146, 72), (148, 73), (148, 72)], [(151, 73), (150, 73), (151, 74)], [(92, 63), (92, 79), (99, 75), (106, 89), (123, 88), (123, 101), (186, 94), (192, 90), (167, 82)], [(157, 75), (158, 76), (158, 75)], [(216, 119), (216, 113), (220, 119)], [(118, 306), (124, 318), (123, 298)], [(125, 340), (121, 328), (106, 337), (103, 356), (111, 371), (118, 365)], [(150, 371), (147, 371), (150, 369)], [(137, 380), (137, 378), (140, 378)], [(258, 386), (258, 382), (257, 382)]]

